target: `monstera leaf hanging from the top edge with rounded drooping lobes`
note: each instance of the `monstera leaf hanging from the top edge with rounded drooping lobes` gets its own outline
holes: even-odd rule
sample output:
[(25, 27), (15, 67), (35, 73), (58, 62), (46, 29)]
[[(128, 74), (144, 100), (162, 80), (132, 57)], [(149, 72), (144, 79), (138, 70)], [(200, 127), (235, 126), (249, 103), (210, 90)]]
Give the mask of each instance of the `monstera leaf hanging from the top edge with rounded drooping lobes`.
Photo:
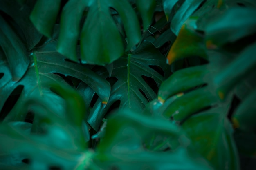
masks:
[[(52, 35), (60, 5), (61, 0), (37, 0), (30, 18), (40, 33), (48, 37)], [(146, 29), (153, 16), (155, 0), (137, 0), (137, 7)], [(88, 8), (88, 13), (81, 28), (85, 8)], [(121, 57), (125, 44), (110, 8), (117, 11), (124, 24), (128, 43), (126, 49), (137, 44), (141, 36), (139, 21), (127, 0), (69, 0), (61, 12), (58, 52), (70, 60), (78, 61), (76, 48), (80, 35), (83, 63), (104, 65)]]

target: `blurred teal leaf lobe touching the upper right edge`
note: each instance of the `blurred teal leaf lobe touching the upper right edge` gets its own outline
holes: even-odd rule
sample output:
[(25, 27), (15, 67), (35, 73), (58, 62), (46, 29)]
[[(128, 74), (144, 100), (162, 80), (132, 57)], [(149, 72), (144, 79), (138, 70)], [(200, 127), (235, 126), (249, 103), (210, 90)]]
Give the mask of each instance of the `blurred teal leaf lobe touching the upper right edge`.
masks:
[[(206, 27), (207, 46), (222, 46), (255, 33), (255, 8), (231, 8)], [(236, 22), (234, 22), (236, 20)]]

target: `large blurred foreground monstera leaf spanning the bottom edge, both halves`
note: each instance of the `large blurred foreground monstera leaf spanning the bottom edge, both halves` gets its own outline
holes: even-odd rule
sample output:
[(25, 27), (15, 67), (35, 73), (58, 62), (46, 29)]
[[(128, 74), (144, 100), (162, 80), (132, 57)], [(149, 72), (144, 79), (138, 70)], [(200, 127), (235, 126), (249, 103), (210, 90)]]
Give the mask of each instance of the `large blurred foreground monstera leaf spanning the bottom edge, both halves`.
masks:
[[(81, 97), (69, 86), (49, 85), (65, 102), (65, 116), (59, 117), (54, 104), (47, 99), (35, 96), (27, 98), (18, 114), (33, 110), (37, 118), (47, 120), (43, 125), (45, 132), (35, 133), (35, 122), (1, 123), (0, 150), (1, 156), (4, 155), (4, 159), (0, 159), (1, 168), (213, 170), (200, 155), (189, 152), (190, 142), (179, 127), (167, 120), (156, 120), (132, 111), (109, 117), (106, 137), (95, 152), (88, 150), (85, 142), (80, 140), (84, 135), (79, 115), (83, 115), (85, 109), (79, 105), (82, 103)], [(70, 109), (74, 109), (72, 114)], [(172, 152), (148, 151), (144, 148), (144, 142), (150, 139), (152, 132), (173, 137), (178, 143), (177, 147), (172, 148)], [(24, 160), (29, 163), (24, 163)]]

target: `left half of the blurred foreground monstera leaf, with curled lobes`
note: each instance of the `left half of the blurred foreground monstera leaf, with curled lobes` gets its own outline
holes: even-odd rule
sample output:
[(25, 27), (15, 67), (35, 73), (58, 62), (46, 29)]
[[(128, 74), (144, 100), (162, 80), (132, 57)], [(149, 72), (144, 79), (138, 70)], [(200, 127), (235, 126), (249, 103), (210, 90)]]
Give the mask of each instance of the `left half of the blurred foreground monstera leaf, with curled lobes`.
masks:
[[(80, 169), (88, 163), (87, 159), (91, 159), (92, 153), (85, 150), (88, 129), (82, 126), (85, 114), (83, 99), (70, 86), (56, 82), (48, 85), (63, 99), (65, 109), (59, 110), (48, 98), (27, 97), (16, 114), (33, 111), (33, 124), (20, 121), (0, 124), (0, 150), (1, 156), (4, 155), (0, 160), (1, 168)], [(28, 160), (29, 165), (23, 160)]]

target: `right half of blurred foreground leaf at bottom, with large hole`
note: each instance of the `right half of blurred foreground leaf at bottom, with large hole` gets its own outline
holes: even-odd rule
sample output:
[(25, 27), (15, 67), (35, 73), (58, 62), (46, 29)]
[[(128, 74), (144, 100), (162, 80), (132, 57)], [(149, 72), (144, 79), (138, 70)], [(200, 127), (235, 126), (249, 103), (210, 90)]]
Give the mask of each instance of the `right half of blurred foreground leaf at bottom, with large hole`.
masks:
[[(154, 132), (168, 134), (175, 140), (179, 139), (180, 147), (173, 152), (146, 150), (143, 144)], [(108, 119), (105, 138), (99, 144), (93, 160), (104, 169), (113, 167), (120, 170), (211, 169), (200, 156), (186, 150), (186, 140), (179, 128), (167, 120), (153, 119), (132, 111), (123, 111), (115, 113)]]

